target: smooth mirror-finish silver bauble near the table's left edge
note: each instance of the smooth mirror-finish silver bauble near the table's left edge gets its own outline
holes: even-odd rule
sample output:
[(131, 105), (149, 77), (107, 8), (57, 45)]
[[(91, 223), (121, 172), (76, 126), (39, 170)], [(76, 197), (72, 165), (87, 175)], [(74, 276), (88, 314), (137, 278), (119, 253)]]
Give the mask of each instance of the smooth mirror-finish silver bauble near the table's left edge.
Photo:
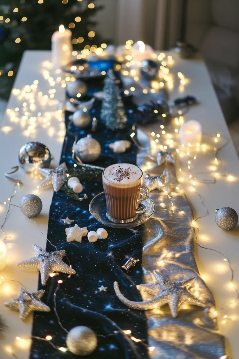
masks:
[(28, 142), (21, 147), (18, 159), (24, 171), (33, 172), (35, 169), (49, 167), (51, 153), (43, 143)]

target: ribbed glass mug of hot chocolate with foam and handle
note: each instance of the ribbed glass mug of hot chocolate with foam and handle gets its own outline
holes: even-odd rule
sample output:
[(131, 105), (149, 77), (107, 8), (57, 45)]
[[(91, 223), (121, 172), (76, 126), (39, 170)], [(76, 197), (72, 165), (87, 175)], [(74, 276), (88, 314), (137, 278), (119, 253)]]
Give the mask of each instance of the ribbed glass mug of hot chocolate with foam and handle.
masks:
[(142, 186), (143, 172), (139, 167), (129, 163), (112, 164), (104, 169), (102, 177), (106, 216), (111, 222), (133, 222), (144, 212), (138, 208), (139, 202), (149, 198), (149, 189)]

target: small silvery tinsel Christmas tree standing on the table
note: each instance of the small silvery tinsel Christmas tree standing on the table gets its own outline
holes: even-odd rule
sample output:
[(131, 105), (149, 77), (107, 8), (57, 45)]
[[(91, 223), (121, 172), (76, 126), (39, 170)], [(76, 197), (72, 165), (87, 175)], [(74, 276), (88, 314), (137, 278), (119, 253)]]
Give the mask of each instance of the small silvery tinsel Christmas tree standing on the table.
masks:
[(124, 104), (120, 96), (119, 87), (116, 84), (114, 71), (109, 69), (104, 84), (105, 97), (102, 101), (101, 120), (107, 129), (119, 130), (125, 127), (127, 117)]

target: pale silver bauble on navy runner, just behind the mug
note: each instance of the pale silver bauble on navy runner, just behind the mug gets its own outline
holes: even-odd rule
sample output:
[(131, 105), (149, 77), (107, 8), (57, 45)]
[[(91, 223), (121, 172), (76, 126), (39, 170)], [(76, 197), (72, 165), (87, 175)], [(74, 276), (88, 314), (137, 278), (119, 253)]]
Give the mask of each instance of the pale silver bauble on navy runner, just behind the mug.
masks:
[(83, 162), (92, 162), (99, 158), (101, 146), (91, 135), (81, 138), (75, 145), (75, 154)]

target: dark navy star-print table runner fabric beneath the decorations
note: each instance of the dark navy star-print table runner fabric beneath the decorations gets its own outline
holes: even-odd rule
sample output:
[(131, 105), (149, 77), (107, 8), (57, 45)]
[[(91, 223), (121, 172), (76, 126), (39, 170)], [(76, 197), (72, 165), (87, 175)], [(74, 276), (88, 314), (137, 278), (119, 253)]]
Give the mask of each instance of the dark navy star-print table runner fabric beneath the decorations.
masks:
[[(100, 103), (96, 102), (96, 113), (100, 110)], [(127, 107), (128, 110), (130, 107)], [(128, 122), (133, 115), (127, 110)], [(68, 125), (69, 112), (66, 113), (66, 126)], [(96, 116), (92, 113), (92, 116)], [(97, 117), (97, 116), (96, 116)], [(80, 130), (71, 125), (71, 132), (78, 130), (78, 139), (85, 137), (90, 129)], [(106, 167), (117, 162), (136, 163), (137, 148), (131, 140), (130, 129), (113, 132), (98, 127), (92, 133), (100, 142), (102, 151), (100, 158), (92, 164)], [(71, 149), (74, 136), (67, 135), (68, 140), (63, 144), (61, 163), (66, 162), (71, 168)], [(129, 140), (130, 149), (123, 154), (114, 153), (109, 149), (109, 143), (115, 140)], [(54, 192), (49, 212), (49, 224), (47, 238), (57, 246), (57, 250), (65, 250), (64, 261), (69, 265), (67, 258), (75, 269), (76, 274), (68, 278), (68, 275), (59, 273), (53, 276), (44, 286), (39, 280), (39, 289), (46, 290), (44, 303), (50, 308), (49, 313), (34, 313), (33, 336), (45, 338), (52, 336), (52, 342), (58, 347), (65, 347), (66, 332), (59, 326), (54, 313), (54, 290), (58, 280), (59, 290), (56, 294), (56, 308), (58, 316), (64, 328), (68, 331), (78, 325), (90, 326), (98, 336), (98, 345), (94, 353), (82, 358), (89, 359), (146, 359), (147, 353), (147, 321), (143, 311), (129, 309), (116, 297), (114, 281), (124, 283), (123, 294), (131, 300), (142, 300), (137, 284), (142, 283), (142, 237), (137, 229), (114, 229), (107, 227), (108, 237), (90, 243), (86, 237), (82, 242), (67, 242), (62, 218), (75, 220), (68, 227), (78, 224), (79, 227), (87, 227), (89, 231), (96, 231), (103, 227), (89, 213), (89, 203), (98, 193), (103, 191), (102, 183), (82, 183), (88, 199), (82, 202), (70, 200), (63, 192)], [(47, 242), (47, 251), (55, 251)], [(127, 274), (121, 268), (126, 260), (133, 256), (140, 261), (132, 267)], [(107, 287), (107, 290), (99, 288)], [(132, 336), (141, 339), (142, 342), (134, 342), (130, 336), (122, 330), (130, 329)], [(62, 353), (54, 349), (48, 342), (33, 339), (30, 359), (55, 358), (73, 359), (75, 355), (70, 351)]]

